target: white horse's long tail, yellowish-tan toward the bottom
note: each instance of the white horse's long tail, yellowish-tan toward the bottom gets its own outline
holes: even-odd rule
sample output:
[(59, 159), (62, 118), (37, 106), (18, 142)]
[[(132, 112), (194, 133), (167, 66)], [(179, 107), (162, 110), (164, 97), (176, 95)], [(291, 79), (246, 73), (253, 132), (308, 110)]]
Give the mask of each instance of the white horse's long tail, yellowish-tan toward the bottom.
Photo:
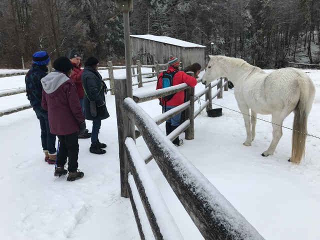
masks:
[(311, 110), (315, 88), (308, 76), (300, 77), (300, 98), (294, 109), (292, 152), (290, 161), (299, 164), (305, 152), (307, 135), (307, 119)]

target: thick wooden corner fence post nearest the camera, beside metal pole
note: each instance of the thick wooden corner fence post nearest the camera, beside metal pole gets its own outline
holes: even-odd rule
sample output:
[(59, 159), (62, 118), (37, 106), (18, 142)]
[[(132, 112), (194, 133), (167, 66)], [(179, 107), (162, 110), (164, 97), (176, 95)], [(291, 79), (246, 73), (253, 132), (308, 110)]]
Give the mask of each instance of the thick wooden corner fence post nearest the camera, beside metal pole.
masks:
[[(135, 140), (134, 124), (127, 117), (123, 109), (123, 100), (127, 97), (126, 79), (114, 79), (115, 111), (118, 128), (119, 161), (120, 161), (120, 193), (123, 197), (129, 197), (128, 193), (128, 157), (125, 153), (124, 140), (127, 136)], [(133, 127), (132, 127), (133, 125)]]

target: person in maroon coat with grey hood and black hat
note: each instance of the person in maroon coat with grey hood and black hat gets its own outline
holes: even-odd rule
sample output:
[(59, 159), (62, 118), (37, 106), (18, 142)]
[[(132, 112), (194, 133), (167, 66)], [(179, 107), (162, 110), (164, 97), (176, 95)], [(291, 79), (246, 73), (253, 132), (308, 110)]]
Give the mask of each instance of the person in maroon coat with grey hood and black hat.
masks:
[[(83, 177), (78, 167), (78, 133), (85, 130), (85, 121), (80, 101), (70, 79), (72, 64), (65, 56), (53, 62), (55, 71), (41, 79), (42, 107), (48, 111), (50, 131), (59, 139), (55, 176), (65, 175), (69, 171), (68, 181)], [(68, 158), (68, 168), (64, 164)]]

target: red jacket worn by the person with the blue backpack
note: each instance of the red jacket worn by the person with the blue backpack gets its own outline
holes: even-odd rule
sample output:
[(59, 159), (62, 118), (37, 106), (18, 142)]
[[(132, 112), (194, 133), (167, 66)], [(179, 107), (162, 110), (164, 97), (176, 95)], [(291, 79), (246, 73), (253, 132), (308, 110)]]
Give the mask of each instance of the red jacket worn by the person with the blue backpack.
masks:
[[(176, 70), (174, 67), (169, 66), (169, 68), (166, 71), (170, 72), (170, 71), (174, 71), (174, 70)], [(155, 89), (162, 88), (162, 81), (161, 81), (162, 74), (163, 74), (163, 72), (160, 72), (159, 77), (158, 77), (158, 82), (156, 84)], [(197, 83), (196, 79), (193, 76), (186, 74), (184, 71), (176, 72), (173, 76), (173, 79), (172, 79), (172, 86), (178, 85), (183, 82), (188, 84), (191, 87), (195, 86)], [(161, 104), (163, 104), (162, 98), (160, 100), (161, 100)], [(183, 102), (184, 102), (184, 91), (182, 90), (182, 91), (176, 92), (170, 100), (166, 101), (166, 105), (167, 106), (177, 106), (177, 105), (182, 104)]]

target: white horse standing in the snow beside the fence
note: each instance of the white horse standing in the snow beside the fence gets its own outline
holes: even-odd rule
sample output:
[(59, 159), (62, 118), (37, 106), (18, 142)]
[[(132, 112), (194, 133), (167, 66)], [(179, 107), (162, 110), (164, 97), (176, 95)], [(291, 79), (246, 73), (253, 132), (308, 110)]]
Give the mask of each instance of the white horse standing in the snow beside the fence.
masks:
[[(246, 129), (245, 146), (255, 136), (256, 114), (272, 115), (272, 141), (261, 155), (272, 155), (282, 136), (282, 122), (294, 111), (292, 151), (289, 161), (300, 163), (305, 150), (307, 117), (311, 110), (315, 88), (312, 80), (301, 70), (287, 67), (270, 73), (246, 61), (227, 56), (211, 56), (202, 83), (224, 76), (234, 84), (234, 96), (243, 113)], [(251, 124), (250, 113), (251, 109)], [(250, 126), (251, 125), (251, 126)], [(251, 128), (251, 129), (250, 129)]]

